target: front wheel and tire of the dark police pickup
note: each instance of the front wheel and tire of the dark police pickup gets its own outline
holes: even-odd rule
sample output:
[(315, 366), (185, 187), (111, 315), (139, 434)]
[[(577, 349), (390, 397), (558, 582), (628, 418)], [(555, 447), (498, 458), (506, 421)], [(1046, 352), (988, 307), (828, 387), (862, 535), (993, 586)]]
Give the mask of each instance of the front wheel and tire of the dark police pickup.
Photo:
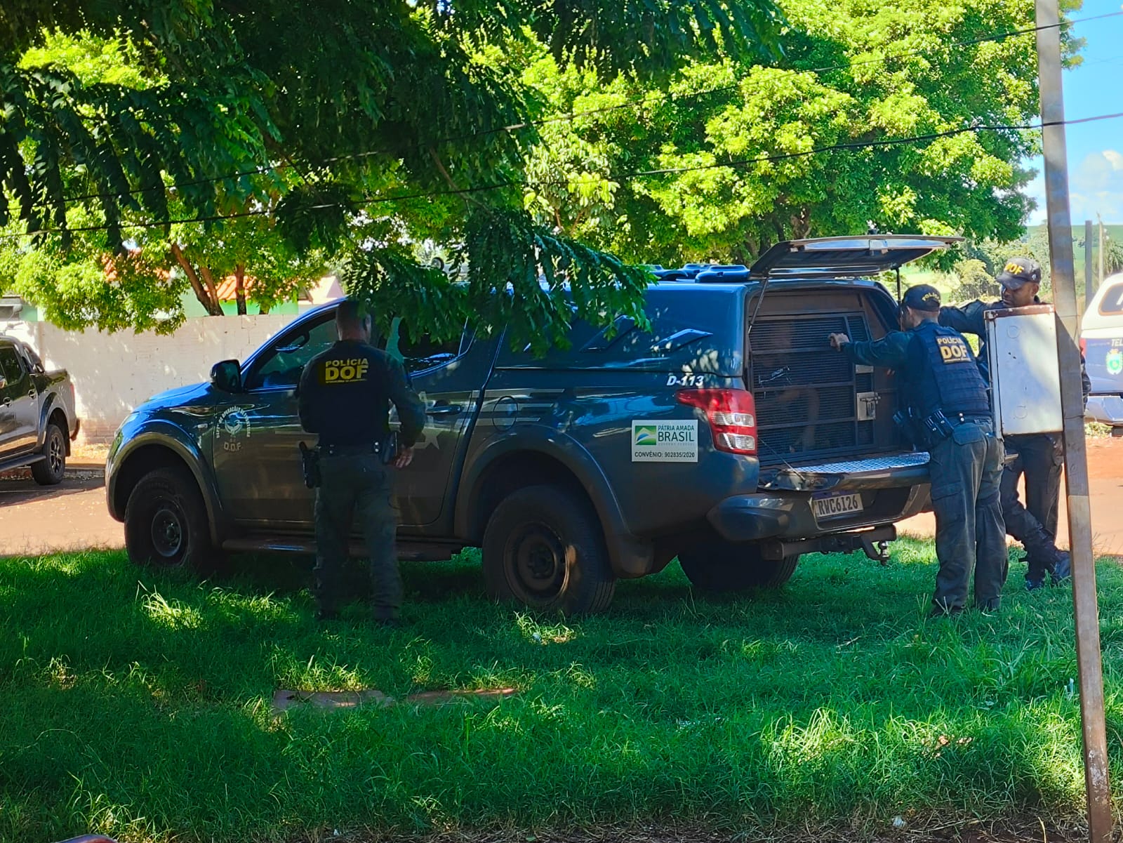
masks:
[(125, 547), (136, 565), (214, 570), (219, 552), (194, 477), (182, 468), (157, 468), (141, 477), (125, 505)]

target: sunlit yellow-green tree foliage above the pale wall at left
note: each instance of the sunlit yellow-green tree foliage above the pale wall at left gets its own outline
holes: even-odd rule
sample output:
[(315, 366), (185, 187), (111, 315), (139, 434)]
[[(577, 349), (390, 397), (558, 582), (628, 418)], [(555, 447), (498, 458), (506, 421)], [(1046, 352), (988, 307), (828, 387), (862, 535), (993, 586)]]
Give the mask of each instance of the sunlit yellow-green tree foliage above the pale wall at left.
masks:
[[(20, 66), (63, 67), (84, 86), (113, 84), (144, 91), (166, 82), (159, 74), (141, 72), (136, 47), (120, 37), (49, 34), (43, 46), (22, 56)], [(81, 183), (76, 171), (61, 171), (64, 184)], [(271, 180), (249, 177), (258, 184), (247, 210), (262, 202), (275, 204), (296, 175), (287, 169)], [(168, 191), (167, 204), (173, 217), (189, 214), (176, 191)], [(97, 228), (106, 221), (100, 211), (72, 203), (69, 227)], [(126, 210), (121, 222), (128, 226), (141, 218)], [(180, 296), (185, 288), (208, 313), (221, 315), (218, 285), (226, 276), (236, 278), (239, 313), (248, 312), (249, 301), (267, 312), (325, 269), (322, 253), (299, 254), (268, 214), (234, 217), (207, 230), (182, 223), (167, 230), (131, 229), (127, 250), (116, 255), (107, 249), (101, 231), (57, 232), (33, 240), (17, 237), (19, 223), (10, 222), (8, 239), (0, 240), (0, 277), (9, 280), (11, 292), (44, 306), (48, 318), (69, 328), (173, 330), (183, 320)]]

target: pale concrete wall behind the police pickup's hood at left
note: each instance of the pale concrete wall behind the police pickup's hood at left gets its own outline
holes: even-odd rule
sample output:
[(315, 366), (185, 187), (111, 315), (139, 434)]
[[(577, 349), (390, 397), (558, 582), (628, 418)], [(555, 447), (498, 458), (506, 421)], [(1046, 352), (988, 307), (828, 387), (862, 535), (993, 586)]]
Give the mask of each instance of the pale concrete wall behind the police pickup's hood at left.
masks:
[(174, 335), (64, 331), (49, 322), (0, 322), (0, 333), (30, 345), (47, 368), (74, 382), (79, 441), (108, 442), (126, 415), (152, 395), (210, 378), (218, 360), (246, 359), (293, 314), (189, 319)]

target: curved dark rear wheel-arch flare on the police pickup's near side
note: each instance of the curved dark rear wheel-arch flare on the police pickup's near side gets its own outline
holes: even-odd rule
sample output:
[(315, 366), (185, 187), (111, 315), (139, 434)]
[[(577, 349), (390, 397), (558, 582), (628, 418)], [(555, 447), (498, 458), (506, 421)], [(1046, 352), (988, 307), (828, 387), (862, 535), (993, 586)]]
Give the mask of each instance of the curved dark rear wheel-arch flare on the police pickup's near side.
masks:
[(456, 500), (456, 535), (466, 537), (472, 532), (472, 505), (489, 468), (503, 457), (528, 451), (557, 460), (584, 487), (601, 521), (612, 568), (618, 576), (640, 577), (651, 572), (654, 546), (629, 532), (620, 502), (600, 465), (573, 437), (541, 424), (519, 424), (511, 431), (491, 437), (478, 450), (469, 453), (462, 475), (462, 494)]

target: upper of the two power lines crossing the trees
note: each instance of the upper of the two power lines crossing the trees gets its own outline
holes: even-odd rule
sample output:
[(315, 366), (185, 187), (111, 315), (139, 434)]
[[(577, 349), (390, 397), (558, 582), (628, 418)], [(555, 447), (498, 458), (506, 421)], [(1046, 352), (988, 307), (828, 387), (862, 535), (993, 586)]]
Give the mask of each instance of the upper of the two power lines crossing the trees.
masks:
[[(849, 70), (851, 67), (860, 67), (860, 66), (870, 65), (870, 64), (886, 64), (886, 63), (888, 63), (888, 62), (891, 62), (891, 61), (893, 61), (895, 58), (905, 58), (905, 57), (914, 56), (914, 55), (923, 55), (923, 54), (930, 53), (930, 52), (932, 52), (932, 51), (934, 51), (937, 48), (950, 48), (950, 47), (959, 47), (959, 46), (973, 46), (973, 45), (977, 45), (977, 44), (986, 44), (986, 43), (989, 43), (989, 42), (999, 42), (999, 40), (1004, 40), (1006, 38), (1013, 38), (1013, 37), (1017, 37), (1017, 36), (1021, 36), (1021, 35), (1029, 35), (1031, 33), (1037, 33), (1037, 31), (1044, 30), (1044, 29), (1052, 29), (1052, 28), (1063, 27), (1063, 26), (1072, 26), (1072, 25), (1076, 25), (1076, 24), (1087, 24), (1087, 22), (1095, 21), (1095, 20), (1103, 20), (1105, 18), (1115, 18), (1115, 17), (1120, 17), (1120, 16), (1123, 16), (1123, 10), (1121, 10), (1121, 11), (1113, 11), (1113, 12), (1105, 12), (1104, 15), (1094, 15), (1094, 16), (1087, 17), (1087, 18), (1071, 18), (1069, 20), (1063, 20), (1063, 21), (1061, 21), (1059, 24), (1047, 24), (1044, 26), (1026, 27), (1026, 28), (1023, 28), (1023, 29), (1011, 29), (1011, 30), (1006, 30), (1006, 31), (1002, 31), (1002, 33), (990, 33), (989, 35), (979, 36), (977, 38), (966, 38), (966, 39), (960, 39), (960, 40), (942, 42), (938, 46), (917, 47), (915, 49), (902, 51), (900, 53), (891, 53), (891, 54), (882, 56), (879, 58), (866, 58), (866, 59), (861, 59), (861, 61), (858, 61), (858, 62), (848, 62), (846, 64), (827, 65), (827, 66), (823, 66), (823, 67), (800, 68), (800, 67), (776, 67), (776, 66), (768, 66), (768, 65), (757, 65), (757, 66), (759, 66), (759, 67), (761, 67), (764, 70), (777, 70), (777, 71), (786, 71), (786, 72), (791, 72), (791, 73), (814, 73), (814, 74), (819, 75), (819, 74), (823, 74), (823, 73), (831, 73), (831, 72), (834, 72), (834, 71), (844, 71), (844, 70)], [(541, 118), (539, 120), (527, 120), (527, 121), (523, 121), (523, 122), (511, 123), (509, 126), (502, 126), (502, 127), (497, 127), (497, 128), (494, 128), (494, 129), (482, 129), (480, 131), (466, 132), (466, 134), (463, 134), (463, 135), (454, 135), (454, 136), (449, 136), (449, 137), (445, 137), (445, 138), (438, 138), (433, 143), (435, 144), (458, 143), (458, 141), (462, 141), (462, 140), (471, 140), (473, 138), (486, 137), (486, 136), (495, 135), (495, 134), (499, 134), (499, 132), (520, 131), (522, 129), (528, 129), (528, 128), (536, 127), (536, 126), (548, 126), (548, 125), (556, 123), (556, 122), (574, 122), (578, 118), (582, 118), (582, 117), (592, 117), (594, 114), (608, 113), (610, 111), (618, 111), (618, 110), (627, 109), (627, 108), (641, 108), (641, 107), (647, 106), (647, 104), (657, 104), (658, 102), (663, 102), (663, 101), (666, 101), (668, 99), (670, 99), (670, 100), (673, 100), (675, 102), (683, 102), (684, 100), (694, 100), (694, 99), (699, 99), (699, 98), (702, 98), (702, 97), (707, 97), (707, 95), (713, 94), (713, 93), (723, 93), (723, 92), (727, 92), (727, 91), (733, 91), (733, 90), (739, 89), (742, 84), (745, 84), (747, 82), (751, 82), (751, 81), (752, 81), (752, 77), (749, 76), (749, 77), (745, 77), (742, 80), (738, 80), (737, 82), (732, 82), (732, 83), (729, 83), (729, 84), (725, 84), (725, 85), (718, 85), (715, 88), (707, 88), (707, 89), (703, 89), (701, 91), (692, 91), (690, 93), (684, 93), (684, 94), (678, 94), (678, 95), (672, 95), (668, 92), (658, 91), (658, 92), (654, 92), (652, 94), (645, 94), (643, 97), (641, 97), (639, 99), (628, 100), (626, 102), (619, 102), (619, 103), (615, 103), (615, 104), (612, 104), (612, 106), (604, 106), (602, 108), (588, 109), (588, 110), (585, 110), (585, 111), (570, 111), (570, 112), (567, 112), (565, 114), (556, 114), (554, 117)], [(367, 158), (367, 157), (373, 157), (373, 156), (377, 156), (377, 155), (393, 155), (394, 152), (395, 152), (394, 149), (367, 149), (367, 150), (364, 150), (364, 152), (360, 152), (360, 153), (351, 153), (351, 154), (337, 155), (337, 156), (331, 156), (331, 157), (328, 157), (328, 158), (323, 158), (320, 162), (318, 162), (317, 164), (314, 164), (313, 166), (325, 166), (325, 165), (328, 165), (328, 164), (336, 164), (336, 163), (344, 162), (344, 161), (357, 161), (357, 159), (360, 159), (360, 158)], [(117, 191), (117, 192), (103, 191), (103, 192), (100, 192), (100, 193), (86, 193), (86, 194), (79, 195), (79, 196), (66, 196), (66, 198), (63, 199), (63, 202), (64, 203), (70, 203), (70, 202), (81, 202), (81, 201), (85, 201), (85, 200), (89, 200), (89, 199), (110, 199), (110, 198), (113, 198), (113, 196), (128, 196), (128, 195), (135, 195), (135, 194), (138, 194), (138, 193), (147, 193), (147, 192), (153, 191), (153, 190), (177, 190), (177, 189), (190, 187), (190, 186), (195, 186), (195, 185), (200, 185), (200, 184), (212, 184), (212, 183), (216, 183), (216, 182), (225, 182), (225, 181), (230, 181), (230, 180), (234, 180), (234, 178), (241, 178), (244, 176), (249, 176), (249, 175), (264, 175), (264, 174), (270, 173), (270, 172), (275, 172), (275, 171), (279, 171), (279, 169), (285, 169), (285, 168), (292, 167), (292, 166), (295, 166), (295, 165), (292, 164), (292, 163), (287, 163), (287, 162), (281, 162), (281, 163), (279, 163), (276, 165), (263, 165), (263, 166), (259, 166), (259, 167), (255, 167), (253, 169), (247, 169), (247, 171), (243, 171), (243, 172), (238, 172), (238, 173), (232, 173), (232, 174), (229, 174), (229, 175), (208, 176), (206, 178), (197, 178), (197, 180), (192, 180), (192, 181), (188, 181), (188, 182), (180, 182), (177, 184), (173, 184), (173, 185), (170, 185), (170, 186), (166, 186), (166, 187), (164, 185), (159, 185), (159, 186), (153, 185), (150, 187), (136, 187), (136, 189), (128, 190), (128, 191)], [(468, 191), (468, 192), (471, 192), (471, 191)]]

